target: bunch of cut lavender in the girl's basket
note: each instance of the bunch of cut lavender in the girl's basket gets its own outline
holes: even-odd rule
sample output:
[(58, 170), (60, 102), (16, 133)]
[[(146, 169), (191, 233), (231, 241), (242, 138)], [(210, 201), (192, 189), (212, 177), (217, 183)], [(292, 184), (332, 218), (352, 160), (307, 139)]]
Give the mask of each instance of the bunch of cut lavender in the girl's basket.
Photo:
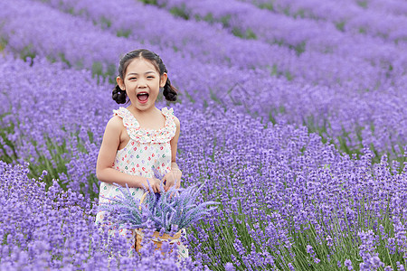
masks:
[[(162, 178), (157, 171), (155, 174), (157, 179)], [(219, 204), (216, 201), (196, 203), (204, 184), (185, 189), (173, 186), (167, 192), (164, 191), (163, 184), (161, 186), (161, 192), (157, 193), (149, 187), (149, 192), (141, 202), (131, 195), (128, 186), (124, 188), (118, 185), (121, 194), (116, 198), (109, 198), (110, 202), (102, 203), (99, 210), (107, 210), (113, 215), (119, 228), (149, 228), (153, 223), (156, 231), (169, 234), (203, 219), (216, 209), (213, 205)]]

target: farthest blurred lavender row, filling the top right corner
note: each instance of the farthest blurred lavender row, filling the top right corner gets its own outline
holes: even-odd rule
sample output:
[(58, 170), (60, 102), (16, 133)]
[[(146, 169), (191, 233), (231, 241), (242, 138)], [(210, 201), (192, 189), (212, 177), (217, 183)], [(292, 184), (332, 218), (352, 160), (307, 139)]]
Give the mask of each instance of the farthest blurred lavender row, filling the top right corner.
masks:
[(345, 33), (368, 34), (387, 42), (405, 42), (404, 1), (239, 0), (292, 17), (323, 20)]

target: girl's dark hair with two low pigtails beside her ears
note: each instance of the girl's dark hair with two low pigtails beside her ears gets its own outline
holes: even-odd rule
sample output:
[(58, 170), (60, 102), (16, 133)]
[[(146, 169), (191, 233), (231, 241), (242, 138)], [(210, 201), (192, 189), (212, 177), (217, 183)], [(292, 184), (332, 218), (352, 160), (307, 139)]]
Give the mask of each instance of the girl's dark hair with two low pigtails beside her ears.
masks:
[[(148, 51), (147, 49), (138, 49), (135, 51), (129, 51), (120, 59), (120, 62), (118, 64), (118, 76), (121, 79), (124, 79), (124, 74), (128, 69), (128, 64), (130, 64), (132, 60), (137, 58), (142, 58), (150, 61), (156, 67), (156, 70), (159, 72), (160, 76), (167, 72), (166, 65), (164, 65), (161, 58), (154, 51)], [(163, 89), (163, 95), (166, 100), (176, 100), (178, 90), (171, 85), (170, 79), (166, 79), (166, 85)], [(112, 91), (111, 98), (113, 98), (118, 104), (124, 104), (127, 100), (126, 90), (122, 90), (118, 87), (118, 85), (116, 85), (116, 87)]]

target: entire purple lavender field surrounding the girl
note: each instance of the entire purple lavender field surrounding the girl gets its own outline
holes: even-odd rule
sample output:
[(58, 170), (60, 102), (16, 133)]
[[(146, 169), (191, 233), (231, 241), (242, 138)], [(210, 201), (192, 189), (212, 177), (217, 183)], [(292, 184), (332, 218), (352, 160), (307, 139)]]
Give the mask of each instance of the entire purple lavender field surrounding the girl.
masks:
[[(118, 60), (156, 51), (190, 258), (94, 223)], [(0, 270), (405, 270), (404, 0), (0, 1)]]

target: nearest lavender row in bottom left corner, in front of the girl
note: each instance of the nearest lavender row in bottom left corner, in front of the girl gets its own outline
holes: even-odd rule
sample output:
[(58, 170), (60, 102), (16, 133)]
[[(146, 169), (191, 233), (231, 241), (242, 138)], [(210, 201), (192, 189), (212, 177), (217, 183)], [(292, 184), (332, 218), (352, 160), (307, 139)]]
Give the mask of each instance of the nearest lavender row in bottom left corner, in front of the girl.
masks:
[(0, 202), (5, 206), (0, 212), (1, 270), (104, 270), (109, 265), (120, 270), (194, 269), (191, 260), (156, 255), (147, 247), (140, 249), (143, 259), (118, 259), (128, 249), (126, 242), (109, 238), (107, 230), (95, 225), (90, 199), (64, 192), (57, 182), (47, 191), (44, 182), (28, 178), (28, 173), (27, 164), (0, 161)]

